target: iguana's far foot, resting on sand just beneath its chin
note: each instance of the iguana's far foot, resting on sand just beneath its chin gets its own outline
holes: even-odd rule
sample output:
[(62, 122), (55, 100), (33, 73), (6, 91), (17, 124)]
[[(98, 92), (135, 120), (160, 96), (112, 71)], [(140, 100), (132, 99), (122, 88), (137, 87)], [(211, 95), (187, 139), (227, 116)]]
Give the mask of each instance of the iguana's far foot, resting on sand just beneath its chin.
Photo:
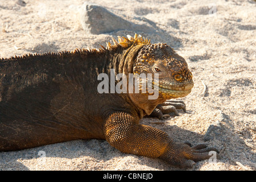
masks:
[(186, 106), (183, 101), (180, 100), (168, 100), (164, 102), (163, 104), (159, 104), (155, 107), (155, 109), (150, 114), (150, 117), (157, 117), (161, 120), (164, 119), (164, 117), (169, 117), (170, 113), (174, 113), (175, 115), (179, 115), (177, 112), (177, 109), (182, 109), (184, 112), (186, 112)]

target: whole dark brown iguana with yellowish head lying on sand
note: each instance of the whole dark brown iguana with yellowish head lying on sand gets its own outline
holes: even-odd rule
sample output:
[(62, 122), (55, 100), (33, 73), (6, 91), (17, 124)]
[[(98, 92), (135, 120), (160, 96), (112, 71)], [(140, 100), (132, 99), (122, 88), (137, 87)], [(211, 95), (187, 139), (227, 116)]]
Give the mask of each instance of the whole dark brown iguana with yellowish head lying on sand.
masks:
[[(118, 150), (193, 167), (215, 147), (172, 140), (139, 123), (145, 115), (185, 110), (193, 87), (183, 57), (167, 44), (118, 36), (99, 49), (15, 56), (0, 60), (0, 151), (22, 150), (75, 139), (106, 139)], [(159, 96), (151, 93), (98, 93), (100, 73), (110, 76), (158, 73)], [(120, 80), (119, 80), (120, 81)], [(115, 80), (115, 84), (119, 82)], [(154, 88), (153, 88), (154, 89)]]

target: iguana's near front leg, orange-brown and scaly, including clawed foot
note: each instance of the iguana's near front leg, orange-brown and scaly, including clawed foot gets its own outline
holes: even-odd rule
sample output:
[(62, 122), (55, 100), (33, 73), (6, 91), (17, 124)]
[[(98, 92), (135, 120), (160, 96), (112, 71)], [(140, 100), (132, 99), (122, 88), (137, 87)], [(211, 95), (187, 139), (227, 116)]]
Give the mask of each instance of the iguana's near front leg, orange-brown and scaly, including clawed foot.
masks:
[(160, 158), (179, 167), (193, 167), (195, 161), (209, 159), (209, 151), (217, 151), (214, 147), (174, 142), (163, 131), (140, 125), (135, 114), (121, 111), (109, 115), (104, 133), (110, 145), (122, 152)]

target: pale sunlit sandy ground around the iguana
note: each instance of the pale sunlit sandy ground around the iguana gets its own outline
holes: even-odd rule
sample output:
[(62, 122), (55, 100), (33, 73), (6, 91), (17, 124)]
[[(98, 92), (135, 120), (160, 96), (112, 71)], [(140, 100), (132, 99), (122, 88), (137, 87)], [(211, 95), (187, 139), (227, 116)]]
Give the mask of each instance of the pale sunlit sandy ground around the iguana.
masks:
[[(82, 29), (77, 1), (0, 0), (0, 57), (98, 48), (120, 30), (93, 35)], [(256, 4), (248, 1), (89, 1), (134, 24), (152, 43), (167, 43), (183, 56), (195, 86), (183, 98), (187, 113), (142, 123), (175, 140), (226, 147), (233, 160), (256, 169)], [(120, 24), (120, 27), (122, 25)], [(204, 84), (207, 86), (205, 92)], [(159, 124), (159, 122), (162, 122)], [(211, 126), (209, 128), (209, 126)], [(210, 130), (212, 129), (212, 130)], [(208, 139), (205, 141), (204, 139)], [(245, 170), (226, 152), (196, 170)], [(159, 159), (123, 154), (105, 140), (75, 140), (15, 152), (0, 152), (0, 170), (179, 170)]]

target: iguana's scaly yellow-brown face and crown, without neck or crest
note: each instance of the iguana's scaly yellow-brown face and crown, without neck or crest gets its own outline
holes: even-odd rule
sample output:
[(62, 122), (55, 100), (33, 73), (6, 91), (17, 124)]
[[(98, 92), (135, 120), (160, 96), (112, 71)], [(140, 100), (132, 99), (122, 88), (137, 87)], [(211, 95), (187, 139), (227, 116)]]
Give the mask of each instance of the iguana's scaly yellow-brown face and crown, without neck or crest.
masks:
[(159, 97), (185, 97), (193, 88), (192, 73), (183, 57), (167, 44), (147, 44), (138, 52), (133, 72), (158, 74)]

